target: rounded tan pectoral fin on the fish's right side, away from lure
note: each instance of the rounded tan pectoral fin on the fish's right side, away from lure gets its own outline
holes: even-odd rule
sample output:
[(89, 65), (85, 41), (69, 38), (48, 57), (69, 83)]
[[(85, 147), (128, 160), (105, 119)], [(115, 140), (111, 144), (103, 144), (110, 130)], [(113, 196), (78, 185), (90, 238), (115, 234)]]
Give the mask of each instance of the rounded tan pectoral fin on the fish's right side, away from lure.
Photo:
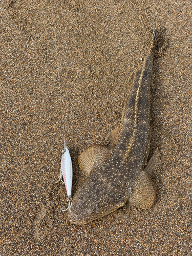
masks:
[(129, 191), (129, 201), (131, 205), (139, 209), (151, 208), (155, 202), (155, 186), (150, 177), (144, 172), (134, 180)]

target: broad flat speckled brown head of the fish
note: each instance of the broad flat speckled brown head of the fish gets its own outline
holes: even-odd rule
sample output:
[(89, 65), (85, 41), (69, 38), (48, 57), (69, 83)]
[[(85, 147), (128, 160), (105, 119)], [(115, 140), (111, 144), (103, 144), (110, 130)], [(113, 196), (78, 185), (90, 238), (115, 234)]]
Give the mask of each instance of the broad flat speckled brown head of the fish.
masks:
[(76, 192), (68, 217), (76, 225), (99, 219), (123, 206), (127, 201), (124, 186), (109, 187), (105, 183), (84, 183)]

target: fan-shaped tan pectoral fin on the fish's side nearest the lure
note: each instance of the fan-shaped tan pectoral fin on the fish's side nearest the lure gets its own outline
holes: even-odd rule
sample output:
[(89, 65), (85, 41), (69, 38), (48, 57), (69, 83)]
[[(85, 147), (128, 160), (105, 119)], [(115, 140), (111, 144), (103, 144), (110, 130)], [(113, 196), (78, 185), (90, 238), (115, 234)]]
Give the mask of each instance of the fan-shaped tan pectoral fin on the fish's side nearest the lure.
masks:
[(83, 151), (78, 157), (78, 164), (81, 172), (88, 175), (96, 166), (101, 166), (111, 155), (111, 150), (104, 146), (91, 146)]

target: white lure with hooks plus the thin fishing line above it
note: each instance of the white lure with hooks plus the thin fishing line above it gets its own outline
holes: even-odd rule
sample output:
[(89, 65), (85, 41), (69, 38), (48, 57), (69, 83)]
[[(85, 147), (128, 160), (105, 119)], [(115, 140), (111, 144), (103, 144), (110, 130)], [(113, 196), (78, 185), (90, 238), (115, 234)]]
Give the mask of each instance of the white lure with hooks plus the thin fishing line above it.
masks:
[[(68, 208), (62, 211), (70, 211), (71, 208), (71, 189), (72, 189), (72, 179), (73, 179), (73, 168), (72, 168), (72, 161), (69, 150), (66, 145), (66, 137), (65, 137), (65, 124), (63, 118), (63, 111), (62, 111), (62, 97), (61, 97), (61, 85), (60, 85), (60, 75), (59, 75), (59, 61), (58, 61), (58, 52), (57, 52), (57, 39), (56, 39), (56, 31), (55, 31), (55, 20), (53, 15), (53, 1), (51, 0), (51, 7), (52, 7), (52, 19), (53, 19), (53, 28), (54, 28), (54, 42), (55, 42), (55, 52), (56, 52), (56, 61), (57, 61), (57, 75), (58, 75), (58, 82), (59, 82), (59, 93), (60, 93), (60, 108), (61, 108), (61, 119), (62, 119), (62, 130), (63, 130), (63, 142), (64, 142), (64, 149), (62, 150), (62, 157), (61, 157), (61, 168), (60, 168), (60, 176), (59, 181), (61, 180), (62, 183), (65, 183), (67, 195), (68, 195)], [(64, 182), (62, 181), (62, 178)]]

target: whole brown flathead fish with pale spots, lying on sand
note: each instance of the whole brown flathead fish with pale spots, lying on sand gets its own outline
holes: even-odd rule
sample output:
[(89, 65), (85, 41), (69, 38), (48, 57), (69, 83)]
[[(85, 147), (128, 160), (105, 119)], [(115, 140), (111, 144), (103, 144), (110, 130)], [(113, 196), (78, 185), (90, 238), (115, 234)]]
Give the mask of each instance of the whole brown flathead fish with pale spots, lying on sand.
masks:
[[(150, 148), (150, 84), (155, 36), (156, 29), (126, 103), (118, 135), (112, 139), (111, 150), (94, 146), (78, 159), (88, 177), (73, 198), (69, 212), (71, 223), (86, 224), (110, 214), (127, 201), (138, 208), (150, 208), (154, 204), (155, 188), (148, 174), (157, 163), (158, 152), (149, 167), (143, 168)], [(89, 168), (87, 158), (94, 163), (89, 163)]]

